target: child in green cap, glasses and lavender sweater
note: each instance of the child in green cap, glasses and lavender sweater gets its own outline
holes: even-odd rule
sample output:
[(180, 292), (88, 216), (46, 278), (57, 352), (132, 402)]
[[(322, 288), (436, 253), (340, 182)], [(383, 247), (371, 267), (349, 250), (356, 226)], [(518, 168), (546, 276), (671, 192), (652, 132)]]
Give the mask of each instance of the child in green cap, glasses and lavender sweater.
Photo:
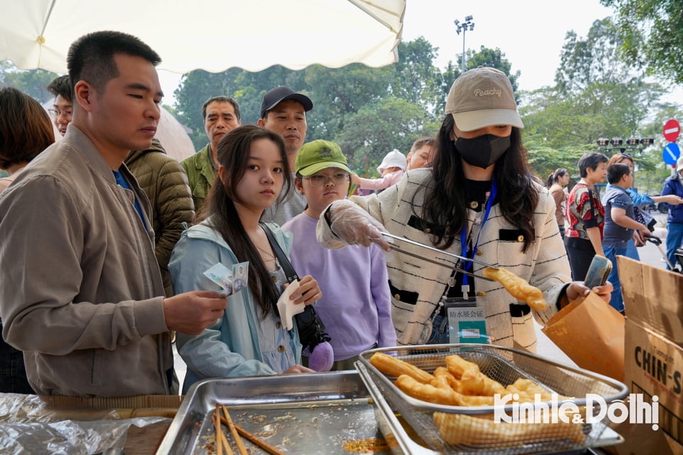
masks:
[(322, 140), (304, 144), (297, 154), (296, 172), (296, 188), (306, 196), (308, 206), (282, 225), (282, 230), (294, 235), (292, 265), (300, 274), (314, 273), (324, 292), (315, 311), (332, 338), (332, 370), (353, 370), (362, 351), (396, 346), (386, 263), (376, 245), (328, 250), (316, 241), (320, 213), (334, 200), (344, 199), (349, 190), (351, 171), (339, 145)]

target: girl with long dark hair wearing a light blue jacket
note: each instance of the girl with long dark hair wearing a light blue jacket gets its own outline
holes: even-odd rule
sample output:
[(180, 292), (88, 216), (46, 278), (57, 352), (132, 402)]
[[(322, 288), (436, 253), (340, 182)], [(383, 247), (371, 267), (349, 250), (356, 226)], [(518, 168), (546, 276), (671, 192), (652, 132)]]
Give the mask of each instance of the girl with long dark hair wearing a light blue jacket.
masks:
[[(203, 272), (220, 262), (228, 269), (249, 262), (248, 286), (227, 297), (221, 319), (201, 333), (177, 333), (178, 352), (187, 364), (183, 387), (205, 378), (312, 373), (301, 363), (296, 324), (287, 331), (277, 312), (286, 277), (259, 225), (263, 210), (275, 203), (290, 170), (279, 134), (255, 126), (238, 127), (218, 144), (218, 184), (203, 205), (201, 223), (181, 235), (169, 262), (174, 291), (217, 289)], [(268, 227), (285, 253), (291, 237), (274, 223)], [(290, 299), (312, 304), (321, 296), (312, 277), (302, 277)]]

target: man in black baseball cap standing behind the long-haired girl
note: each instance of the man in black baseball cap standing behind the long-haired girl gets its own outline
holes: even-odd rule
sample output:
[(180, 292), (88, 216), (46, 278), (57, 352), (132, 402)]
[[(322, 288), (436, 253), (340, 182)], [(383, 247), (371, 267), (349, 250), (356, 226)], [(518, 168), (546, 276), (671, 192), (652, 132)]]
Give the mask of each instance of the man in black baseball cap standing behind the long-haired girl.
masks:
[[(295, 169), (297, 153), (306, 139), (306, 112), (313, 109), (313, 102), (306, 95), (297, 93), (290, 87), (276, 87), (263, 97), (258, 126), (270, 129), (285, 139), (287, 159), (292, 171)], [(292, 179), (293, 181), (293, 179)], [(287, 188), (285, 188), (286, 190)], [(294, 188), (283, 193), (275, 205), (265, 210), (261, 220), (272, 221), (278, 225), (299, 215), (306, 208), (306, 198)]]

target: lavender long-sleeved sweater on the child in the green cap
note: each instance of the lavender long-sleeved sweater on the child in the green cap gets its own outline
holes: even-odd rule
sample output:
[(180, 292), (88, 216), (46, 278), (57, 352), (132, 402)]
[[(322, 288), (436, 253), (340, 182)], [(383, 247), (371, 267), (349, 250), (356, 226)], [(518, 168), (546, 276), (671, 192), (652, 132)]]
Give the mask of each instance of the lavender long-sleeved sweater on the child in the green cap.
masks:
[(375, 343), (381, 348), (396, 346), (381, 249), (351, 245), (328, 250), (316, 240), (317, 222), (301, 213), (282, 225), (282, 230), (293, 234), (290, 260), (297, 274), (311, 275), (322, 290), (315, 311), (332, 338), (334, 360), (354, 357)]

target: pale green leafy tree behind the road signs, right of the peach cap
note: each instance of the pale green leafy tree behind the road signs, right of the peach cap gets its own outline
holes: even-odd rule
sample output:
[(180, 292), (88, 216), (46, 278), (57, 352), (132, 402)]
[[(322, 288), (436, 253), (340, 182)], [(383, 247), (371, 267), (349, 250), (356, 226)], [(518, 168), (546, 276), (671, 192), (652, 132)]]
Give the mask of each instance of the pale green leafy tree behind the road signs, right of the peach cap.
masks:
[[(610, 18), (593, 22), (588, 36), (569, 31), (556, 70), (556, 85), (524, 93), (520, 108), (530, 164), (542, 178), (566, 167), (576, 175), (576, 161), (586, 151), (599, 149), (598, 138), (655, 137), (647, 127), (659, 104), (662, 87), (646, 82), (645, 73), (620, 60), (623, 39)], [(661, 126), (660, 126), (661, 129)], [(624, 146), (626, 147), (626, 146)], [(654, 149), (651, 147), (650, 149)], [(637, 185), (647, 170), (657, 166), (649, 150), (637, 154)], [(661, 157), (660, 157), (661, 161)], [(647, 186), (647, 185), (646, 185)]]

